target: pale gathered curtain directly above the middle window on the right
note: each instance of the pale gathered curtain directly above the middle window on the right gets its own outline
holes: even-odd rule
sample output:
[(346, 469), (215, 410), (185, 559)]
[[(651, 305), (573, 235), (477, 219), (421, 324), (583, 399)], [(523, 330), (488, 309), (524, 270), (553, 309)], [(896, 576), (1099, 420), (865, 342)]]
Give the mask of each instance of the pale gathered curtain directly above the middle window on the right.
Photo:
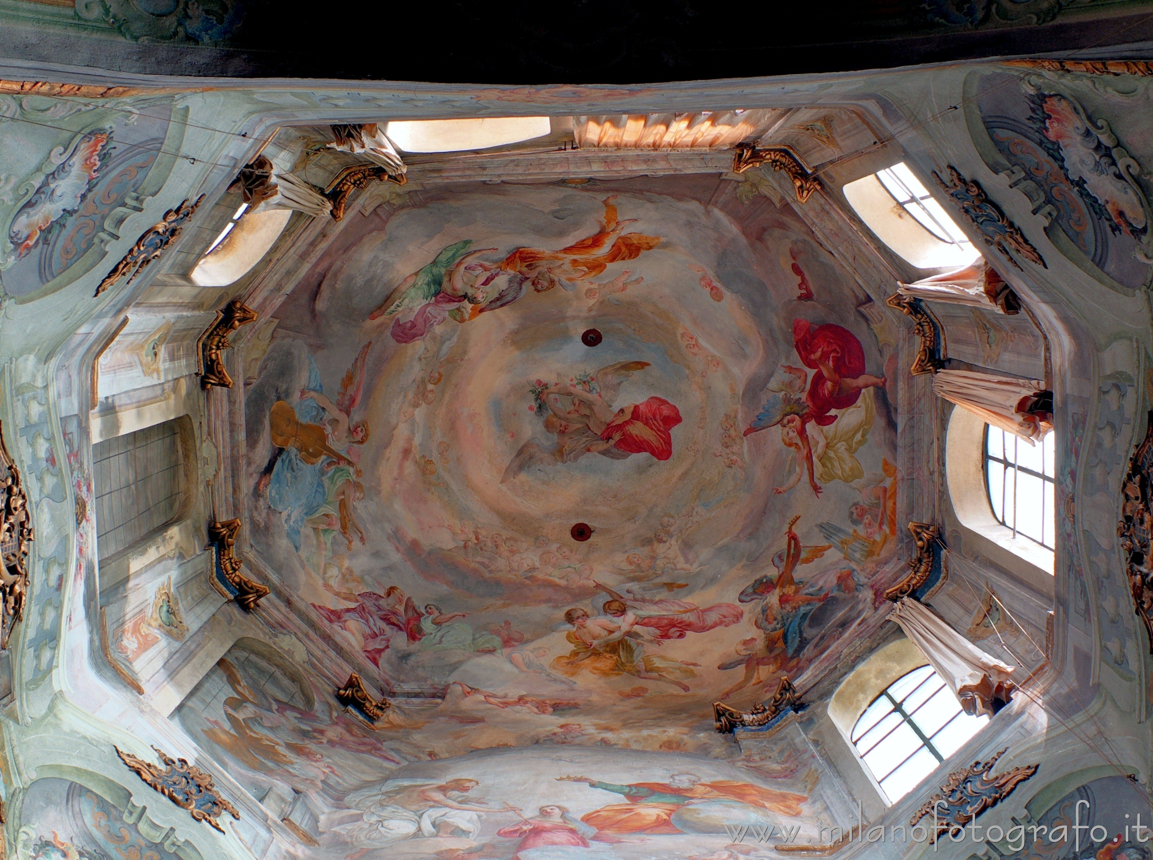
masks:
[(1045, 383), (972, 370), (939, 370), (933, 393), (969, 409), (994, 427), (1034, 444), (1053, 429), (1052, 397), (1046, 403)]

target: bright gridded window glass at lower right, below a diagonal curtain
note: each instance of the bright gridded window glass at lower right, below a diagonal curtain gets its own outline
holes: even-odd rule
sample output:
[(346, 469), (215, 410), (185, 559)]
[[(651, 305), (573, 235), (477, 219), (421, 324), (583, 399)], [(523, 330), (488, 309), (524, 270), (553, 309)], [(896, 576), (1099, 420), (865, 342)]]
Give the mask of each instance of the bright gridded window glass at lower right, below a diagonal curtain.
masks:
[(921, 666), (873, 700), (851, 740), (895, 804), (988, 722), (965, 714), (933, 666)]

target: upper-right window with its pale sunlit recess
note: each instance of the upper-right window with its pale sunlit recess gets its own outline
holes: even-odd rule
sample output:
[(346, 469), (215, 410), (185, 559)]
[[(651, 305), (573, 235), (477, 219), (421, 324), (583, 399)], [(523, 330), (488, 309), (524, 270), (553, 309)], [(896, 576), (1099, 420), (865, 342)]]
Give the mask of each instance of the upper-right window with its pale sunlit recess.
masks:
[(966, 266), (980, 256), (904, 163), (850, 182), (842, 190), (868, 228), (918, 269)]

